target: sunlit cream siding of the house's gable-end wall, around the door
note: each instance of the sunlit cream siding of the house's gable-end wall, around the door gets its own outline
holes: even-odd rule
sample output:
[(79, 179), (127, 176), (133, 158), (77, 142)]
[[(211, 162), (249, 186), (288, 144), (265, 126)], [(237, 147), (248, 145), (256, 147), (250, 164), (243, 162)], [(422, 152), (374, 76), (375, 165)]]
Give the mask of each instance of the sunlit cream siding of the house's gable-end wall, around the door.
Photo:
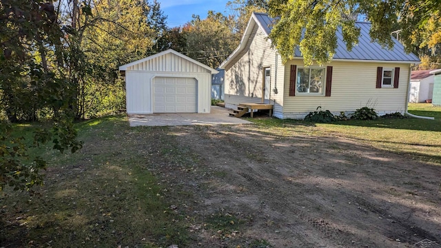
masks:
[[(271, 68), (269, 101), (274, 115), (282, 114), (284, 66), (280, 55), (271, 48), (265, 32), (255, 25), (247, 52), (240, 54), (230, 68), (225, 68), (225, 107), (240, 103), (261, 103), (263, 97), (263, 68)], [(277, 92), (277, 94), (276, 94)]]

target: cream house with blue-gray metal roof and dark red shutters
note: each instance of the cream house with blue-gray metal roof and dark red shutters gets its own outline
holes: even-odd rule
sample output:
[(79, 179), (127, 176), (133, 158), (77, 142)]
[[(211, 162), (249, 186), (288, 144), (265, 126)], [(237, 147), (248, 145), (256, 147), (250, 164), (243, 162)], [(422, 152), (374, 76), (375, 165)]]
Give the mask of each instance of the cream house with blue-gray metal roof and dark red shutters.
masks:
[(274, 19), (253, 13), (236, 50), (224, 61), (225, 107), (240, 103), (274, 105), (277, 118), (304, 118), (318, 106), (334, 114), (373, 107), (379, 114), (407, 110), (410, 65), (420, 60), (394, 40), (392, 50), (372, 43), (369, 23), (357, 22), (360, 39), (351, 52), (338, 33), (331, 63), (306, 68), (300, 51), (282, 64), (268, 34)]

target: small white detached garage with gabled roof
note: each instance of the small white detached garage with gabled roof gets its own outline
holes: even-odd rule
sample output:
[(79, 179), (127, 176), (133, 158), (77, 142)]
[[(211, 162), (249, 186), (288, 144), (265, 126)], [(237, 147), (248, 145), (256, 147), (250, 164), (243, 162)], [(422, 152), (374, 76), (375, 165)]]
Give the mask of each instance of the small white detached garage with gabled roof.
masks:
[(170, 49), (119, 70), (127, 114), (209, 113), (212, 74), (218, 71), (203, 63)]

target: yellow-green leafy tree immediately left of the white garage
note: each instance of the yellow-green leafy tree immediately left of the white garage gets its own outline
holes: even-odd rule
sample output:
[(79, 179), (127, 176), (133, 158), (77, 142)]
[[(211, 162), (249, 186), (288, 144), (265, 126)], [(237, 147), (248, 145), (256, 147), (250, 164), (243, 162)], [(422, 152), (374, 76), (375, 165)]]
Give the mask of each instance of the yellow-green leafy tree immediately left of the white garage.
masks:
[[(143, 0), (96, 1), (87, 6), (68, 2), (65, 45), (70, 51), (68, 72), (76, 88), (76, 118), (121, 110), (124, 84), (118, 67), (145, 56), (156, 34), (149, 28)], [(81, 10), (81, 11), (80, 11)]]

